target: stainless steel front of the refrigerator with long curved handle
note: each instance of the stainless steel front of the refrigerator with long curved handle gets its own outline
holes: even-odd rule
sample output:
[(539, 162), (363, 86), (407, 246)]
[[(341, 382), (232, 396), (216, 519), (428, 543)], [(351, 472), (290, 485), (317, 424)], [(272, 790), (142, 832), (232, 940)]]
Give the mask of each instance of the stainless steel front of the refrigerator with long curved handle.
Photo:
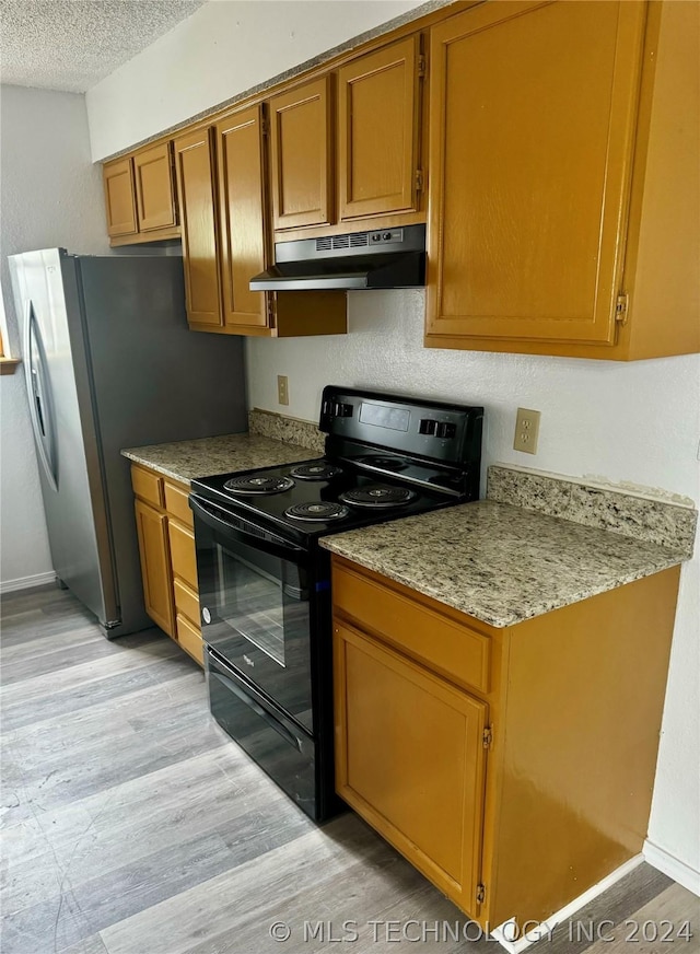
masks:
[(58, 248), (10, 258), (54, 569), (109, 628), (118, 623), (119, 608), (98, 437), (91, 395), (79, 395), (84, 380), (75, 369), (85, 365), (82, 319), (69, 315), (61, 263), (74, 268)]

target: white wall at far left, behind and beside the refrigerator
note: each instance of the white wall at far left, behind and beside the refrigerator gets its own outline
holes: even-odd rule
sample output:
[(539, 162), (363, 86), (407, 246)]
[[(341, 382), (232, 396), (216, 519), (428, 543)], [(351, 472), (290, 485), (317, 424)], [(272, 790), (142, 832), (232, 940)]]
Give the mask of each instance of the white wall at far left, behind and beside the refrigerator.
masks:
[[(84, 96), (0, 88), (0, 283), (19, 354), (7, 256), (63, 245), (104, 252), (102, 177), (91, 164)], [(0, 377), (0, 589), (51, 572), (24, 367)], [(38, 578), (38, 580), (35, 580)]]

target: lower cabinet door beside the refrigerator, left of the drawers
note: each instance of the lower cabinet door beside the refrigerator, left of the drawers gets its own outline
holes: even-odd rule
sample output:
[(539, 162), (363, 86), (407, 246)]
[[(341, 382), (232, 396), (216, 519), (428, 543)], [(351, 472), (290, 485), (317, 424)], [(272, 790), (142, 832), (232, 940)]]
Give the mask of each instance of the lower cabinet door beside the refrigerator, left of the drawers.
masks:
[(140, 500), (136, 501), (135, 509), (145, 612), (162, 630), (174, 637), (175, 615), (167, 545), (167, 517)]

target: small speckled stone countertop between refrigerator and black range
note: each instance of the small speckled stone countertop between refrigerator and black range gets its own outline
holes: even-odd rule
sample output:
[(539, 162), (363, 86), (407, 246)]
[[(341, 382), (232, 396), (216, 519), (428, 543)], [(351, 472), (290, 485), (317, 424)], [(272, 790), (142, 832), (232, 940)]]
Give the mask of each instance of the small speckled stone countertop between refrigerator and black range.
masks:
[(142, 464), (182, 484), (189, 484), (196, 477), (275, 467), (318, 456), (300, 444), (248, 433), (129, 447), (121, 453), (136, 464)]

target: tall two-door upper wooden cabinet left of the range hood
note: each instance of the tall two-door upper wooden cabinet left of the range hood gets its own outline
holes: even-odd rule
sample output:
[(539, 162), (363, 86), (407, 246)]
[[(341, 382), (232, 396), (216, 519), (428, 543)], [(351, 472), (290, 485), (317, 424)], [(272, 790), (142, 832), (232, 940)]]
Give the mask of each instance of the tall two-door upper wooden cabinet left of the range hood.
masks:
[(270, 263), (262, 105), (178, 137), (175, 156), (190, 328), (270, 337), (345, 333), (345, 292), (249, 289)]

